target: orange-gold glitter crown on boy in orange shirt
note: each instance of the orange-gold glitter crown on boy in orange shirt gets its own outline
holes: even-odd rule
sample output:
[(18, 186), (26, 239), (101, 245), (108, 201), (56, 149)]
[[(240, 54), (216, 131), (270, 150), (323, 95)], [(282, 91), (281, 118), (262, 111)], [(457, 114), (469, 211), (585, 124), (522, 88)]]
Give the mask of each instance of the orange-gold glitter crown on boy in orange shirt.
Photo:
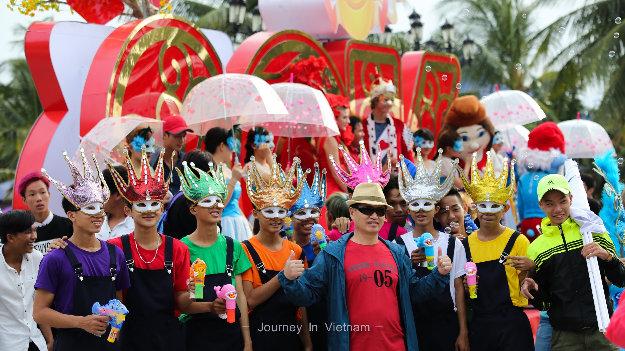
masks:
[[(252, 161), (252, 167), (250, 169), (250, 167), (247, 166), (247, 195), (254, 207), (256, 207), (257, 210), (262, 210), (267, 207), (278, 206), (289, 210), (297, 199), (299, 199), (299, 195), (302, 194), (302, 188), (306, 181), (306, 177), (301, 177), (299, 182), (297, 182), (297, 187), (293, 187), (293, 179), (296, 177), (295, 170), (300, 162), (299, 159), (297, 159), (297, 157), (293, 159), (289, 174), (284, 177), (280, 165), (276, 162), (276, 154), (273, 154), (269, 183), (266, 183), (265, 180), (262, 179), (256, 167), (254, 156), (250, 157), (250, 159)], [(256, 189), (252, 187), (252, 179), (254, 179)]]

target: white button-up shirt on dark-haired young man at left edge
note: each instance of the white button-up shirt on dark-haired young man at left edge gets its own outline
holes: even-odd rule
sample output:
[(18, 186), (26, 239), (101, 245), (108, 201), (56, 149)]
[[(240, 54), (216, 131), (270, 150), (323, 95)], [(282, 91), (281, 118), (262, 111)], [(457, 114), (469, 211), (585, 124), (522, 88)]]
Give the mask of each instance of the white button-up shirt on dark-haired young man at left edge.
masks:
[(32, 250), (22, 258), (21, 272), (6, 263), (0, 248), (0, 350), (26, 351), (30, 341), (47, 350), (46, 340), (32, 319), (34, 284), (41, 252)]

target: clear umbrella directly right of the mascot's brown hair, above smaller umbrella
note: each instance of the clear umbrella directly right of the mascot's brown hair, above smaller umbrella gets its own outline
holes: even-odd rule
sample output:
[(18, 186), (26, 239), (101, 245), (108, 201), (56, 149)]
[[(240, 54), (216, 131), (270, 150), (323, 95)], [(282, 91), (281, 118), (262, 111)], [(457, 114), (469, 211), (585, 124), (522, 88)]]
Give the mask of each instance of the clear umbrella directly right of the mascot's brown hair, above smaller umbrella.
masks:
[(500, 91), (496, 86), (496, 91), (482, 97), (481, 102), (486, 107), (486, 116), (491, 119), (496, 129), (501, 124), (523, 126), (546, 117), (538, 103), (519, 90)]

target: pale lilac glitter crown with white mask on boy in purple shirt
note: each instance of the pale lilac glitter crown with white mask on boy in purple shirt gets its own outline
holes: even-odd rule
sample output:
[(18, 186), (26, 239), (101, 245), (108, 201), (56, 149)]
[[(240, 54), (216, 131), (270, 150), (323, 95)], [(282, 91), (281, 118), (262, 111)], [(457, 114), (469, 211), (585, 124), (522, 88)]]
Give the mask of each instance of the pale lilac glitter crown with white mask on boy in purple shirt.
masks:
[(102, 204), (102, 207), (104, 207), (104, 204), (109, 200), (111, 192), (104, 181), (102, 172), (100, 172), (96, 156), (93, 153), (91, 154), (96, 169), (98, 169), (98, 175), (94, 175), (91, 166), (89, 166), (89, 162), (86, 157), (84, 157), (84, 149), (80, 149), (80, 154), (81, 159), (83, 159), (84, 175), (81, 174), (78, 167), (69, 159), (68, 152), (63, 150), (63, 157), (65, 157), (65, 161), (68, 162), (69, 169), (72, 172), (75, 189), (72, 189), (63, 182), (52, 179), (52, 177), (46, 173), (45, 169), (41, 169), (41, 172), (46, 176), (47, 180), (54, 184), (56, 189), (59, 189), (63, 197), (68, 199), (71, 204), (78, 207), (81, 212), (88, 215), (96, 215), (103, 211), (99, 206), (94, 205), (95, 210), (83, 209), (82, 207), (88, 207), (88, 205), (93, 205), (94, 203)]

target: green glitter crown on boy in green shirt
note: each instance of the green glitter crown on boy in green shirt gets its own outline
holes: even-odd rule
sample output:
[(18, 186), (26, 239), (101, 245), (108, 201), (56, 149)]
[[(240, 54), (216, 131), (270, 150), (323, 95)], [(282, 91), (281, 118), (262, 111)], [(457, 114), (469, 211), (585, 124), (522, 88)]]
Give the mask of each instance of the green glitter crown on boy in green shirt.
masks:
[(195, 167), (193, 162), (191, 162), (191, 167), (199, 173), (199, 178), (191, 172), (186, 161), (183, 162), (184, 176), (178, 167), (176, 167), (176, 172), (180, 175), (180, 185), (183, 189), (184, 196), (194, 203), (199, 202), (199, 200), (204, 199), (204, 197), (208, 195), (217, 195), (221, 197), (222, 201), (225, 201), (228, 196), (222, 164), (219, 164), (219, 167), (217, 167), (217, 172), (212, 169), (212, 162), (208, 162), (208, 166), (211, 168), (210, 173), (216, 175), (216, 177)]

